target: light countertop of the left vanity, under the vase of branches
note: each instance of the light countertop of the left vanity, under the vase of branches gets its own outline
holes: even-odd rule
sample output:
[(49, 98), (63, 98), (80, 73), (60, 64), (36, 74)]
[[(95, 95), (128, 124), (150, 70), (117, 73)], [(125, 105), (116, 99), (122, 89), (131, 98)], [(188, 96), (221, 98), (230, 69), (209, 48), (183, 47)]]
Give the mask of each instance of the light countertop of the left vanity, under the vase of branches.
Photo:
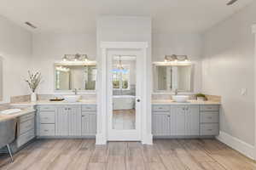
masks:
[(33, 105), (96, 105), (96, 100), (80, 100), (79, 102), (38, 100), (36, 102), (12, 103), (12, 106), (33, 106)]

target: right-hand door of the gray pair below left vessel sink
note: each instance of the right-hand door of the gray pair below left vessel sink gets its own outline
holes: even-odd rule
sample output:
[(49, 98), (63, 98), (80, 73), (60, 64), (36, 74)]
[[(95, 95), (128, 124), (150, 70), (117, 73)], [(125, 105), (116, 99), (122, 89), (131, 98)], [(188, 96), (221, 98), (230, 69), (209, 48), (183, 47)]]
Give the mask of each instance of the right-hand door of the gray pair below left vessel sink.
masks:
[(81, 135), (81, 107), (70, 106), (68, 108), (68, 134), (70, 136), (80, 136)]

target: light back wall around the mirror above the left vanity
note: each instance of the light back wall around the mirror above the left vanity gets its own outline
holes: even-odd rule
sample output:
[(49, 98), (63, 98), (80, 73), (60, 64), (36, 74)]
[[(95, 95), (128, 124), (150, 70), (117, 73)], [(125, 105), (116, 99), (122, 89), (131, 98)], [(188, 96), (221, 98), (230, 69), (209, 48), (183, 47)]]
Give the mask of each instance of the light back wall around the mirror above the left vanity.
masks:
[(54, 63), (64, 54), (88, 54), (89, 59), (96, 60), (96, 34), (35, 33), (32, 39), (32, 67), (41, 71), (44, 81), (38, 94), (54, 93)]

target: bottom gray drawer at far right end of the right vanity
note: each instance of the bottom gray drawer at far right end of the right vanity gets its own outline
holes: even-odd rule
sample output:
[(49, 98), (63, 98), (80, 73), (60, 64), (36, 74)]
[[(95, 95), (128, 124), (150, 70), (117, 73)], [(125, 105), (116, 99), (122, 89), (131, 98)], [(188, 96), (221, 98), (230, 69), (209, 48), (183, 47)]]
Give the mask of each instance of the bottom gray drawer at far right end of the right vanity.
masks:
[(200, 133), (205, 136), (216, 136), (219, 133), (218, 123), (202, 123)]

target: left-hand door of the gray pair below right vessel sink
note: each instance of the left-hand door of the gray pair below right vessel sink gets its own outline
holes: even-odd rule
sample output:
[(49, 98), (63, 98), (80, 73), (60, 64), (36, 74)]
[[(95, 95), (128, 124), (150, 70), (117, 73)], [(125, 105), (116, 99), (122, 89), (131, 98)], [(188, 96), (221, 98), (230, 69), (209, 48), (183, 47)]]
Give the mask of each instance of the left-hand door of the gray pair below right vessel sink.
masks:
[(185, 135), (185, 108), (184, 105), (178, 105), (175, 109), (176, 116), (176, 135)]

